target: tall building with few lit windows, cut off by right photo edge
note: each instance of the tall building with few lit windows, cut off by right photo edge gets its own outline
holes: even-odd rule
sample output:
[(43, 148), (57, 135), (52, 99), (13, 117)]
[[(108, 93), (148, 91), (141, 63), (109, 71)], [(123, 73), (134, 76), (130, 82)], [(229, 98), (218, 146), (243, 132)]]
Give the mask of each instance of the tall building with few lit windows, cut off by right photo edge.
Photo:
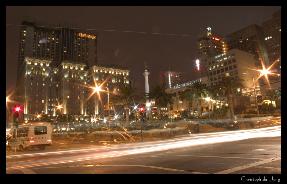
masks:
[(274, 62), (273, 73), (281, 75), (281, 9), (273, 13), (273, 18), (262, 23), (270, 65)]

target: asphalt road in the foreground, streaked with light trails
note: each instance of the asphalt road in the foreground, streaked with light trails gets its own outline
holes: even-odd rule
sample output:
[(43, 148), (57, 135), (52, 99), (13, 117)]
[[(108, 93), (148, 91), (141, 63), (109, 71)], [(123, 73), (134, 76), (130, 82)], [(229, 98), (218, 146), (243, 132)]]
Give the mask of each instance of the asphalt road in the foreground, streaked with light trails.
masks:
[(7, 151), (6, 173), (280, 174), (281, 126), (144, 143), (56, 140), (45, 151)]

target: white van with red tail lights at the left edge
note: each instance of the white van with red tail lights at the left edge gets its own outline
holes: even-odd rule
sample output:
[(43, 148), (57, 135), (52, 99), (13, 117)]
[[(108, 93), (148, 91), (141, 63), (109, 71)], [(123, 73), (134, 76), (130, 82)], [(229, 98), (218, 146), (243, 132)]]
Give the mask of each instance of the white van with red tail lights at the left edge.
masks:
[[(13, 127), (11, 139), (6, 144), (8, 148), (15, 148), (16, 128)], [(39, 148), (44, 150), (46, 146), (52, 146), (51, 123), (28, 123), (17, 128), (16, 149)]]

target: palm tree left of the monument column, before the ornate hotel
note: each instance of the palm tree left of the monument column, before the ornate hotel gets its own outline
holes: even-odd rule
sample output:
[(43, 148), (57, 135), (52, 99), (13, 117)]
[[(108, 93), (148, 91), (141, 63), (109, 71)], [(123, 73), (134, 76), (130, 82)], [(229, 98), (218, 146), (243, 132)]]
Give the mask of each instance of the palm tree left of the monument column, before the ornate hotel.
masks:
[[(129, 125), (129, 110), (135, 102), (143, 101), (144, 96), (135, 94), (131, 85), (123, 85), (119, 94), (111, 94), (110, 106), (122, 105), (125, 109), (126, 125)], [(105, 105), (107, 108), (108, 104)]]

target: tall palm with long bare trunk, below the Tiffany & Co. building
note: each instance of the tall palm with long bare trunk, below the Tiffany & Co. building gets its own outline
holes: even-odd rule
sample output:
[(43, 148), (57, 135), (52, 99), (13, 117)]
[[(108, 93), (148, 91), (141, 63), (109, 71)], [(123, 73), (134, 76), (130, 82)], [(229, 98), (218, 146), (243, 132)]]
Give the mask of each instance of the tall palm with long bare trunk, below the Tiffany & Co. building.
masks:
[(243, 88), (242, 79), (233, 79), (231, 77), (223, 77), (221, 81), (218, 82), (218, 87), (224, 90), (224, 94), (227, 97), (228, 105), (230, 106), (230, 118), (234, 119), (234, 110), (233, 110), (233, 103), (232, 103), (232, 88), (241, 86)]

